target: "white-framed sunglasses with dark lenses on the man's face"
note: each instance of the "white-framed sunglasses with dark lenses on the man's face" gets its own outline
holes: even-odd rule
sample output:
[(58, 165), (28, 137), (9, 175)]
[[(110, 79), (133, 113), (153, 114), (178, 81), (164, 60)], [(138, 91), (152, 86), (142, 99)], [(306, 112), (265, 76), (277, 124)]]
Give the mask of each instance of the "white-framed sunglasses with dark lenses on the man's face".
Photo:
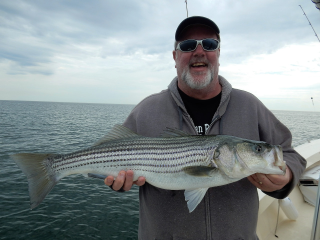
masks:
[(206, 51), (214, 51), (219, 47), (220, 42), (217, 39), (213, 38), (205, 38), (202, 40), (187, 39), (181, 41), (176, 46), (176, 49), (179, 49), (183, 52), (194, 51), (198, 44), (201, 44), (202, 48)]

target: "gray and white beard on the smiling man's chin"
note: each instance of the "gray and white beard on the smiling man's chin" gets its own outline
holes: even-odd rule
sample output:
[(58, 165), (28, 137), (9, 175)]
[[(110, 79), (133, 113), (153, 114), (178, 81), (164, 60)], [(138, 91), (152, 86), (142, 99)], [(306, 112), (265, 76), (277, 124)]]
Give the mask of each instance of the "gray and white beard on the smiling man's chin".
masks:
[(214, 70), (212, 67), (208, 67), (208, 71), (203, 74), (203, 72), (198, 72), (196, 76), (192, 76), (189, 71), (189, 66), (186, 66), (181, 74), (182, 81), (191, 87), (192, 89), (202, 89), (209, 85), (213, 80)]

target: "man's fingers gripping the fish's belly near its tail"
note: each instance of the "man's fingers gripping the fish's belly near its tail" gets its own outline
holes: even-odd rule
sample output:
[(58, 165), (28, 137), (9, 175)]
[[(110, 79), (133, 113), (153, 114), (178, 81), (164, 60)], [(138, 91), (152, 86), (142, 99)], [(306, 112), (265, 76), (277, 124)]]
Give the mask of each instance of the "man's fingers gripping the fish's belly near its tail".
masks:
[(145, 178), (143, 176), (139, 176), (136, 181), (133, 181), (133, 171), (127, 170), (126, 172), (120, 171), (115, 179), (113, 176), (107, 176), (104, 179), (104, 183), (108, 186), (112, 185), (112, 188), (115, 191), (119, 190), (121, 187), (123, 190), (128, 191), (131, 189), (133, 184), (142, 186), (145, 183)]

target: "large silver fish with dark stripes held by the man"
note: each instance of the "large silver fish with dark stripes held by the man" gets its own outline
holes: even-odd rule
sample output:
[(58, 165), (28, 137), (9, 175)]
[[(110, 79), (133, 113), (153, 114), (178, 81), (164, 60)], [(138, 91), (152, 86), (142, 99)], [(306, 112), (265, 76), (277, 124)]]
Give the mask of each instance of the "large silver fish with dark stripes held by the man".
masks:
[(280, 145), (230, 135), (191, 135), (176, 128), (146, 137), (121, 124), (86, 149), (10, 157), (27, 177), (30, 209), (39, 205), (60, 179), (76, 173), (105, 178), (131, 169), (133, 180), (143, 176), (156, 187), (184, 190), (189, 212), (209, 187), (256, 172), (285, 174)]

